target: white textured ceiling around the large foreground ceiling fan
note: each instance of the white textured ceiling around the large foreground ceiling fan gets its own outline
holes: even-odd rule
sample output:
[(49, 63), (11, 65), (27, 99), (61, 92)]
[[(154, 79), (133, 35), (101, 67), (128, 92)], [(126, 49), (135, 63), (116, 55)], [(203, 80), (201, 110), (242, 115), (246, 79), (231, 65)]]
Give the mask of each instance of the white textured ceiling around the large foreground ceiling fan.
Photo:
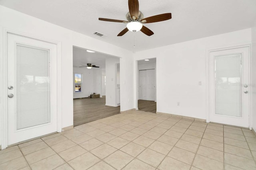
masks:
[[(144, 17), (172, 13), (172, 19), (144, 24), (155, 34), (116, 35), (126, 24), (98, 18), (126, 20), (128, 0), (0, 0), (0, 5), (95, 37), (130, 51), (170, 45), (250, 28), (256, 19), (256, 0), (139, 0)], [(106, 36), (98, 37), (94, 32)]]

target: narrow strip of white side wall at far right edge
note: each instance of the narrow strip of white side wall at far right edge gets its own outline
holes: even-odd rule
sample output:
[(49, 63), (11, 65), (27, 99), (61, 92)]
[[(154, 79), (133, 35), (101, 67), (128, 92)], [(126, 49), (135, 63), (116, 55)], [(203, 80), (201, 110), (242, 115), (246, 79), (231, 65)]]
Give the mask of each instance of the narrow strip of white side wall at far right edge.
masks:
[(252, 27), (252, 128), (256, 131), (256, 21)]

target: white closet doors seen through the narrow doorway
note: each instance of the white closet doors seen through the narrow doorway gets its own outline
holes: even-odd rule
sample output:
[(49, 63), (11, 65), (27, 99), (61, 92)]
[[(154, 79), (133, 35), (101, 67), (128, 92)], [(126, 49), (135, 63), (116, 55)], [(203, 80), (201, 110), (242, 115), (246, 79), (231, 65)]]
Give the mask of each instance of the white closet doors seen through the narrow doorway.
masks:
[(140, 70), (140, 100), (155, 100), (155, 69)]

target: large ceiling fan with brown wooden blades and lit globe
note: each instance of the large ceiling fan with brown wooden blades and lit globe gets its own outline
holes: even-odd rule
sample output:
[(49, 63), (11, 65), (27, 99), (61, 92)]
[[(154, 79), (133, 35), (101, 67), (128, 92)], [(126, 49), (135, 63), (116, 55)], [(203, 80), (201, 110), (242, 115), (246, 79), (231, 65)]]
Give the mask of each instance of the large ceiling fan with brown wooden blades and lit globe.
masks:
[(126, 28), (122, 30), (117, 36), (122, 36), (129, 30), (133, 32), (142, 31), (144, 34), (151, 36), (154, 33), (150, 29), (142, 25), (142, 23), (153, 23), (153, 22), (170, 20), (172, 18), (171, 13), (159, 14), (156, 16), (144, 18), (142, 12), (139, 11), (138, 0), (128, 0), (128, 6), (129, 6), (129, 12), (126, 14), (126, 19), (128, 21), (112, 20), (108, 18), (99, 18), (99, 20), (127, 23)]

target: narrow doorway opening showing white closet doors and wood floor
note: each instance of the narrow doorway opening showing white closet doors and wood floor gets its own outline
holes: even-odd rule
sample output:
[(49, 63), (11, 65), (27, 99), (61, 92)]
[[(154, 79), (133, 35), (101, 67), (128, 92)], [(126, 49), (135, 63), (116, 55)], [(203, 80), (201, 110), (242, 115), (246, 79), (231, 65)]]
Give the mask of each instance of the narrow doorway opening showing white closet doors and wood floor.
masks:
[(156, 58), (140, 60), (138, 70), (138, 110), (156, 113)]

